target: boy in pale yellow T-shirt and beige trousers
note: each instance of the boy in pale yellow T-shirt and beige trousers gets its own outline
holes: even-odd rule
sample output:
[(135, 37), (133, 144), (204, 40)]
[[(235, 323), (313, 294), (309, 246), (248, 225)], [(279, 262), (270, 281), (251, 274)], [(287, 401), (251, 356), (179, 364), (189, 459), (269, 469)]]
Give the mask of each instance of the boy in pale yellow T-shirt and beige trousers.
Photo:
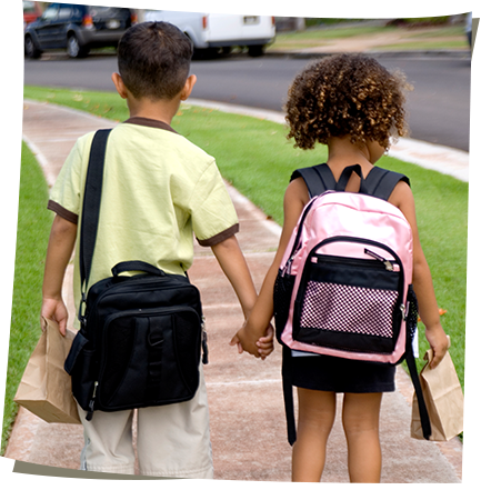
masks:
[[(210, 246), (247, 317), (255, 290), (237, 242), (237, 214), (213, 158), (171, 127), (180, 102), (196, 83), (189, 76), (192, 47), (176, 27), (141, 23), (119, 43), (119, 73), (112, 74), (127, 99), (130, 118), (109, 136), (99, 230), (89, 286), (110, 276), (120, 261), (143, 260), (169, 273), (184, 273), (193, 259), (192, 231)], [(52, 189), (56, 212), (47, 251), (41, 314), (64, 333), (67, 308), (61, 299), (66, 267), (78, 244), (83, 184), (93, 133), (78, 140)], [(76, 307), (80, 278), (74, 260)], [(236, 339), (255, 357), (272, 350), (272, 331), (260, 343)], [(143, 488), (212, 488), (206, 384), (191, 401), (138, 410), (141, 476), (188, 478), (146, 480)], [(134, 473), (133, 411), (97, 411), (91, 421), (79, 407), (86, 446), (81, 467), (90, 471)], [(78, 488), (133, 488), (133, 481), (80, 480)]]

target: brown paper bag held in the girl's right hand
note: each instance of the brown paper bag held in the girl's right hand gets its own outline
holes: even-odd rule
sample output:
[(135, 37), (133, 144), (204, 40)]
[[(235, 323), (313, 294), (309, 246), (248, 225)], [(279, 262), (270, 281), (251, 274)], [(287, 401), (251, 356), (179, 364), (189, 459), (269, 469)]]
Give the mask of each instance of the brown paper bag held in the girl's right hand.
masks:
[[(430, 441), (449, 441), (472, 426), (461, 384), (449, 352), (432, 370), (432, 350), (424, 354), (427, 364), (420, 373), (422, 393), (431, 422)], [(418, 398), (412, 399), (411, 438), (424, 439), (419, 417)]]

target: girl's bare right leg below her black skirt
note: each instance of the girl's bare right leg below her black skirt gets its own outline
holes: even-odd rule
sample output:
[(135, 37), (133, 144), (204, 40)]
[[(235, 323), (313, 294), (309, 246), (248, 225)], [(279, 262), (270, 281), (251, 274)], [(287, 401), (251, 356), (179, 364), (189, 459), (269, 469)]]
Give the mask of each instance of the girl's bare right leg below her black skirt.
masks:
[(344, 394), (342, 424), (348, 440), (348, 468), (352, 489), (379, 489), (381, 400), (382, 392)]

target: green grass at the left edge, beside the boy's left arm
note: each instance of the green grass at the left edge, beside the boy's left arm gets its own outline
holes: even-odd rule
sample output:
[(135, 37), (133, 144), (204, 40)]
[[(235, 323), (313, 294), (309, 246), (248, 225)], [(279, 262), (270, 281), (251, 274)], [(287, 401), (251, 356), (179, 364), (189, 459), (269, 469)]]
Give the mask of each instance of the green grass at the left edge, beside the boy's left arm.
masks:
[(40, 337), (43, 258), (51, 224), (47, 183), (28, 147), (0, 123), (0, 457), (13, 396)]

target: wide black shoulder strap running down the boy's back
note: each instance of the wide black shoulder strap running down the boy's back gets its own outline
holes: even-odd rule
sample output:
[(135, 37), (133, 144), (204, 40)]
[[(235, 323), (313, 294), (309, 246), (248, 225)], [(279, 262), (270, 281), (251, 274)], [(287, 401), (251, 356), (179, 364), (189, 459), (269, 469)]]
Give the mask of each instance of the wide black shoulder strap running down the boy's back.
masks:
[(87, 169), (83, 193), (82, 222), (80, 228), (80, 282), (82, 300), (79, 308), (79, 320), (82, 317), (82, 304), (86, 300), (87, 283), (96, 247), (97, 228), (99, 226), (100, 199), (102, 196), (103, 160), (110, 129), (98, 130), (93, 136)]

